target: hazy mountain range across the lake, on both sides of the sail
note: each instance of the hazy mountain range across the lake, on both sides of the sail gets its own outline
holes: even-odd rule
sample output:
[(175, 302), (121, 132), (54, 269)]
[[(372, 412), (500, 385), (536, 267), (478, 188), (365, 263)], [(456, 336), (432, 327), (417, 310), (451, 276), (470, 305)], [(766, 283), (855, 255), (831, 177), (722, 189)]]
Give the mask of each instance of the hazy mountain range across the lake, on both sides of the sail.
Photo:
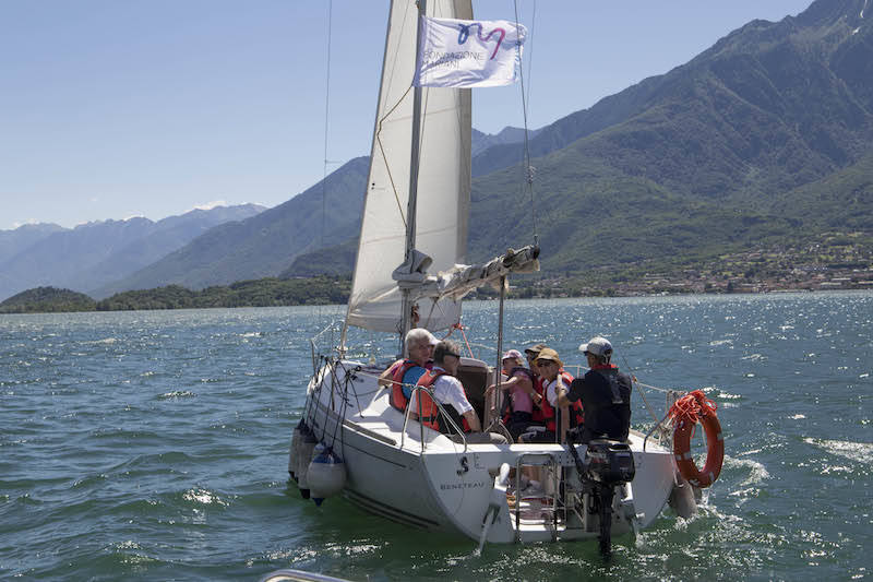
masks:
[[(475, 132), (468, 259), (528, 244), (535, 227), (543, 270), (562, 274), (689, 262), (835, 230), (873, 246), (873, 10), (864, 17), (864, 5), (816, 0), (797, 17), (753, 21), (667, 74), (541, 128), (529, 139), (533, 206), (519, 130)], [(352, 159), (324, 183), (159, 260), (129, 254), (134, 268), (115, 278), (98, 268), (107, 256), (81, 274), (61, 264), (63, 281), (39, 284), (100, 297), (350, 272), (367, 166)], [(8, 265), (21, 273), (37, 261), (12, 258), (2, 235), (0, 297), (17, 284)], [(68, 264), (76, 253), (56, 249)]]

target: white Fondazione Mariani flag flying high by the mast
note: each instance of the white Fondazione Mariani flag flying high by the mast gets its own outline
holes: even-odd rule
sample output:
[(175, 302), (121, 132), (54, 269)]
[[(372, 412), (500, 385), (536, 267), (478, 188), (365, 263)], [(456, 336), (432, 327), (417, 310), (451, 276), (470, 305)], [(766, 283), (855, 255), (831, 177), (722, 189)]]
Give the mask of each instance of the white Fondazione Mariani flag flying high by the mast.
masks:
[(419, 87), (497, 87), (516, 80), (527, 28), (509, 21), (420, 20)]

